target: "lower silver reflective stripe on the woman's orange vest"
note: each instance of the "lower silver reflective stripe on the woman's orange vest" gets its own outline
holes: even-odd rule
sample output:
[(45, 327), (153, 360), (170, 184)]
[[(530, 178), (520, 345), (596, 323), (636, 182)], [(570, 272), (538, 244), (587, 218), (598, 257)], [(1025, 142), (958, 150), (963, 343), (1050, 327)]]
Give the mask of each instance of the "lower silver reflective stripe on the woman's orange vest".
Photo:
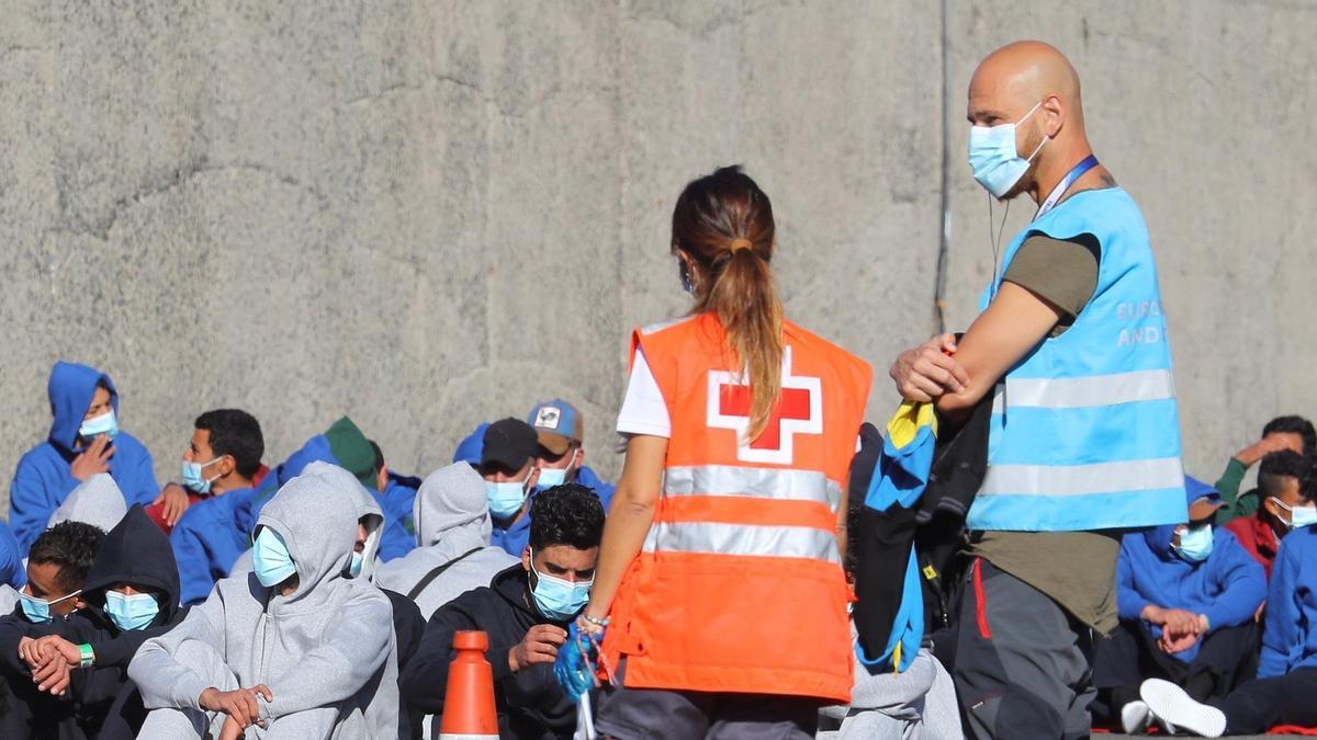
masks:
[(655, 523), (645, 552), (706, 553), (751, 557), (805, 557), (840, 564), (836, 536), (814, 527), (759, 527), (716, 521)]

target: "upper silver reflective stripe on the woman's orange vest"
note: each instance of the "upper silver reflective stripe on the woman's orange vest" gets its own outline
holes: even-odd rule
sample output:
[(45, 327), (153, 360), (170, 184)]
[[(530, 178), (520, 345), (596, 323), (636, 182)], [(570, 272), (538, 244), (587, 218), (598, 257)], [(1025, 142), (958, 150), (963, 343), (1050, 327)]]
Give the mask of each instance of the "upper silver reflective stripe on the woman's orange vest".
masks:
[(668, 496), (748, 496), (773, 500), (827, 503), (836, 511), (842, 486), (815, 470), (690, 465), (669, 467), (664, 477)]

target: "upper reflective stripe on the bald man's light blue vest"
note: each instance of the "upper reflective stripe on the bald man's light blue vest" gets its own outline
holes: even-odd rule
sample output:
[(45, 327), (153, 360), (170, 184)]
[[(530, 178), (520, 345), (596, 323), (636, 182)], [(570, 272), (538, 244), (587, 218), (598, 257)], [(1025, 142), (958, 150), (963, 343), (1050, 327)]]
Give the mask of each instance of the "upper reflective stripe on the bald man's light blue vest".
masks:
[(1084, 408), (1138, 400), (1175, 398), (1169, 370), (1138, 370), (1089, 378), (1006, 378), (997, 383), (993, 413), (1001, 413), (1005, 396), (1017, 408)]

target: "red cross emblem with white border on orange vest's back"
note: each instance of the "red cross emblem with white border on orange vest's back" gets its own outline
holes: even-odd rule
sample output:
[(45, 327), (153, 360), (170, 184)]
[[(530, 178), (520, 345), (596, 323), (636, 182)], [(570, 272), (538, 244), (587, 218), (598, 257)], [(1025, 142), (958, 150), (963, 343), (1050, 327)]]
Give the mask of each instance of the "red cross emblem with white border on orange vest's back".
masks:
[(823, 381), (792, 374), (792, 348), (782, 350), (782, 395), (768, 427), (747, 440), (751, 388), (741, 374), (709, 373), (709, 427), (732, 429), (738, 436), (736, 458), (745, 462), (794, 462), (795, 435), (823, 433)]

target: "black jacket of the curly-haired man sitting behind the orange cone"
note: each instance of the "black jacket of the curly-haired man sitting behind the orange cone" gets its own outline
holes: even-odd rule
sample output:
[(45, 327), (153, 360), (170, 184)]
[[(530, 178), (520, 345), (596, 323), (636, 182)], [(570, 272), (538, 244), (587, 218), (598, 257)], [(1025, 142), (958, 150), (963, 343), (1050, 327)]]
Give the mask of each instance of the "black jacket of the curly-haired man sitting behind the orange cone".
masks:
[(499, 737), (515, 740), (569, 739), (576, 729), (576, 704), (553, 678), (552, 664), (512, 673), (508, 650), (536, 624), (556, 624), (535, 610), (525, 569), (514, 565), (494, 575), (489, 586), (470, 590), (440, 607), (425, 625), (420, 649), (403, 670), (403, 700), (425, 714), (444, 712), (448, 665), (456, 657), (453, 633), (479, 629), (489, 635), (494, 666), (494, 700)]

